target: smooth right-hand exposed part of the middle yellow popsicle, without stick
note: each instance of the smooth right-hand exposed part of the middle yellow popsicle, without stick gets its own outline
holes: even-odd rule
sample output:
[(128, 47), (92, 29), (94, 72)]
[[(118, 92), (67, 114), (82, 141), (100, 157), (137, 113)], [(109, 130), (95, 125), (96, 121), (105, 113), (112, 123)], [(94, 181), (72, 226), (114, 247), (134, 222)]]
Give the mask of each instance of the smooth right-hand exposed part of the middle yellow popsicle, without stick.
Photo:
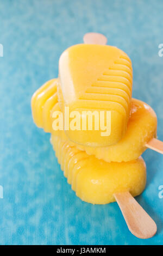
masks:
[(132, 99), (127, 131), (117, 144), (95, 149), (78, 145), (78, 148), (107, 162), (127, 162), (137, 159), (147, 149), (146, 144), (156, 137), (156, 130), (157, 118), (153, 109), (143, 101)]

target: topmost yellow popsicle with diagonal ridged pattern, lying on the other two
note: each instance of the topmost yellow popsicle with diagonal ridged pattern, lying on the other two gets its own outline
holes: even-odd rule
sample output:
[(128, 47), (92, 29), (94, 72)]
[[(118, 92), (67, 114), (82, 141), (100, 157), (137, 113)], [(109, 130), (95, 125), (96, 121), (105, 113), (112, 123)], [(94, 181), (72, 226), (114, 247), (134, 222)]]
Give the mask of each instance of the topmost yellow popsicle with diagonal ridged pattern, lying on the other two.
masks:
[[(78, 144), (104, 147), (120, 141), (127, 129), (132, 90), (132, 66), (126, 53), (107, 45), (79, 44), (68, 48), (59, 60), (58, 97), (63, 113), (69, 111), (110, 111), (111, 133), (65, 130)], [(106, 114), (105, 114), (106, 117)], [(71, 121), (71, 120), (70, 120)]]

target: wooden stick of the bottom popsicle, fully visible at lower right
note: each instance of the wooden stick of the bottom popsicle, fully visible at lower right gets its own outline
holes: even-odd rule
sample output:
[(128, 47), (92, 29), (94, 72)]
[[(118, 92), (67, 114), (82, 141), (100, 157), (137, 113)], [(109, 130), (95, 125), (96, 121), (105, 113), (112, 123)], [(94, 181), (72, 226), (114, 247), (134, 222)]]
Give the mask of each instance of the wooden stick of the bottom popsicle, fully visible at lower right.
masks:
[(141, 239), (155, 235), (157, 230), (155, 222), (129, 192), (115, 193), (114, 197), (133, 235)]

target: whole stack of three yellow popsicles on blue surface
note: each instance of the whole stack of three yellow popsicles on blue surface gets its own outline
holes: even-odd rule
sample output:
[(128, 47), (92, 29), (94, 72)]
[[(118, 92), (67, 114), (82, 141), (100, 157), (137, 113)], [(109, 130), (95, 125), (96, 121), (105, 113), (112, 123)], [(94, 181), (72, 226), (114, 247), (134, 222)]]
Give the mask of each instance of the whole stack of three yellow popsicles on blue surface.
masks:
[[(85, 41), (90, 39), (101, 39), (101, 45), (74, 45), (62, 53), (59, 78), (32, 97), (33, 119), (52, 133), (55, 154), (77, 196), (92, 204), (117, 200), (122, 210), (122, 194), (137, 196), (145, 188), (146, 164), (140, 155), (156, 136), (156, 114), (131, 99), (133, 72), (127, 54), (102, 45), (100, 35), (89, 34)], [(61, 130), (56, 126), (60, 113)], [(156, 226), (148, 218), (155, 229), (149, 237)]]

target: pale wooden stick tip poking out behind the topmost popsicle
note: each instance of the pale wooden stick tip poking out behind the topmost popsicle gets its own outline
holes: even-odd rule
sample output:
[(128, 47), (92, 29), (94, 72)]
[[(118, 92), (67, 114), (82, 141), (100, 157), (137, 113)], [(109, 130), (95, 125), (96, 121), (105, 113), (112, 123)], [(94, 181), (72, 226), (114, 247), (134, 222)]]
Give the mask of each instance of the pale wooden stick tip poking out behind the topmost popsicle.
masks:
[(83, 41), (84, 44), (105, 45), (107, 38), (103, 34), (91, 32), (83, 36)]

